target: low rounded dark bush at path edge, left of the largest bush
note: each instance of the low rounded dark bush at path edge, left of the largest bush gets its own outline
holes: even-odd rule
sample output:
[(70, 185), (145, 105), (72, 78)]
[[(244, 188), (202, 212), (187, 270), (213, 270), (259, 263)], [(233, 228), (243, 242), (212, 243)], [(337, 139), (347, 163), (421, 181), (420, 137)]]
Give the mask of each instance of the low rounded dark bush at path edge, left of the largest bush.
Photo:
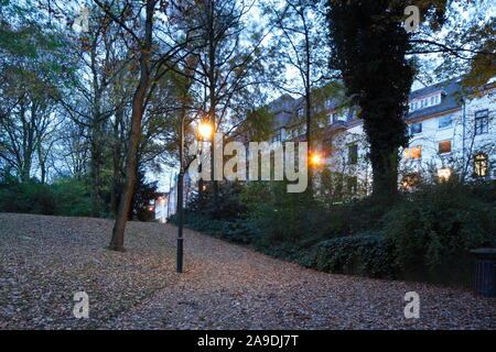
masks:
[(398, 267), (390, 243), (379, 234), (357, 234), (323, 241), (313, 262), (319, 271), (397, 278)]

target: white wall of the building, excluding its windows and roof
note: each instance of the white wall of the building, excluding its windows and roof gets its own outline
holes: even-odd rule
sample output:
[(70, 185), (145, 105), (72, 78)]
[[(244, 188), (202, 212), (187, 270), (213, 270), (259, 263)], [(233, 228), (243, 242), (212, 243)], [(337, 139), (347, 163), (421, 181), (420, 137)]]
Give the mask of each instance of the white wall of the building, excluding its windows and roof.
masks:
[[(408, 160), (405, 157), (405, 151), (400, 150), (400, 178), (405, 174), (419, 173), (422, 178), (432, 179), (438, 176), (439, 168), (449, 168), (451, 173), (471, 179), (474, 173), (474, 156), (481, 152), (488, 156), (487, 177), (496, 178), (494, 167), (496, 163), (495, 95), (495, 89), (487, 90), (482, 97), (466, 99), (465, 107), (409, 121), (409, 127), (413, 123), (422, 123), (422, 132), (412, 135), (409, 142), (409, 147), (421, 147), (421, 157)], [(419, 100), (418, 98), (417, 101)], [(486, 109), (488, 111), (488, 131), (475, 135), (475, 113)], [(452, 124), (440, 128), (440, 119), (450, 116)], [(451, 152), (440, 154), (439, 143), (446, 141), (451, 142)], [(358, 144), (358, 163), (355, 165), (348, 163), (347, 145), (351, 143)], [(367, 152), (368, 144), (365, 141), (363, 123), (358, 123), (333, 134), (333, 145), (325, 165), (331, 170), (346, 173), (349, 176), (355, 175), (358, 184), (369, 188), (371, 186), (371, 168), (366, 158)]]

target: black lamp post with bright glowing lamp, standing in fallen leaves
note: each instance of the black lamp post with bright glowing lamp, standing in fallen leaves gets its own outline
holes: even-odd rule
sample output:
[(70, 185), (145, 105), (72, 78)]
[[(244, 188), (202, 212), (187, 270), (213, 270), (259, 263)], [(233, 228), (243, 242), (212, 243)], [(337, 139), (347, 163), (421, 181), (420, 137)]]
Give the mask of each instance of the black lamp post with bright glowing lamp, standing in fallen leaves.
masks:
[[(184, 165), (184, 120), (185, 116), (181, 119), (181, 134), (180, 134), (180, 173), (177, 175), (177, 217), (179, 217), (179, 226), (177, 226), (177, 258), (176, 258), (176, 272), (183, 272), (183, 254), (184, 254), (184, 238), (183, 238), (183, 227), (184, 227), (184, 174), (186, 172)], [(198, 134), (202, 138), (207, 138), (212, 134), (212, 128), (207, 123), (200, 123), (198, 125)]]

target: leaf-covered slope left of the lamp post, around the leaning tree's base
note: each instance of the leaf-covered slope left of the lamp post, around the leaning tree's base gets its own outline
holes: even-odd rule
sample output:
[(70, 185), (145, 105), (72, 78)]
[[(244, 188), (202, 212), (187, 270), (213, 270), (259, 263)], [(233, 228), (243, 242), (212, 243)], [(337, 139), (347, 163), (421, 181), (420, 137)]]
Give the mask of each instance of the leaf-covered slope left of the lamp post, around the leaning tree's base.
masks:
[[(105, 219), (0, 213), (0, 328), (93, 329), (174, 283), (165, 228), (130, 222), (126, 253), (105, 249)], [(73, 316), (89, 296), (89, 319)]]

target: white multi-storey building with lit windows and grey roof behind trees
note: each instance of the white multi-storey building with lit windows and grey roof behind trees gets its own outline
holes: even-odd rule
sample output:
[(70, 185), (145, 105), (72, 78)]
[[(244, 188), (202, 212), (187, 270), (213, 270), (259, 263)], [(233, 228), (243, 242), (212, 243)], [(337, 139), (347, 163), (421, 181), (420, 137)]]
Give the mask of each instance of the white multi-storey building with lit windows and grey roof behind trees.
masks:
[[(443, 180), (456, 174), (464, 180), (496, 178), (495, 85), (464, 95), (459, 80), (413, 90), (406, 123), (410, 141), (400, 150), (399, 187), (412, 188), (419, 179)], [(357, 108), (345, 98), (327, 98), (312, 113), (314, 150), (339, 189), (368, 194), (371, 168), (368, 145)], [(274, 114), (270, 142), (304, 140), (302, 99), (282, 96), (270, 105)]]

